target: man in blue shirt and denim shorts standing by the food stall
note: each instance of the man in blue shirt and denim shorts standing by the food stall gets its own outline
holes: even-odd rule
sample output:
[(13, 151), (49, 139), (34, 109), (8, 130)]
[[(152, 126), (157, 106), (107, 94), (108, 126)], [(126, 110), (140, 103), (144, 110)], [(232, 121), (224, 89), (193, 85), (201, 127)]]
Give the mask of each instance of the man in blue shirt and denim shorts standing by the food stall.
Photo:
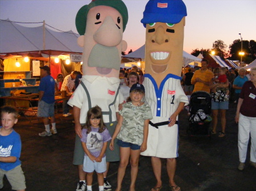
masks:
[[(56, 134), (56, 122), (54, 116), (55, 104), (55, 80), (51, 77), (49, 66), (40, 67), (41, 81), (39, 85), (38, 117), (43, 117), (46, 130), (39, 136), (51, 136)], [(49, 117), (51, 117), (52, 129), (49, 128)]]

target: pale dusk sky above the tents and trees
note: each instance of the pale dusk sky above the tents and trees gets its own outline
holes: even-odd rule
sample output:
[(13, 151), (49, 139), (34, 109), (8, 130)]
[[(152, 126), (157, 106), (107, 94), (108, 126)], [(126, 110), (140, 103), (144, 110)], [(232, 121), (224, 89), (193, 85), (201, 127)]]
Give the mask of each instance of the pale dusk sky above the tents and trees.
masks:
[[(187, 6), (184, 50), (211, 49), (216, 40), (230, 45), (234, 40), (256, 41), (256, 0), (183, 0)], [(75, 18), (77, 11), (89, 0), (0, 0), (0, 19), (15, 22), (43, 22), (49, 26), (77, 33)], [(129, 20), (123, 34), (127, 41), (126, 53), (136, 50), (144, 44), (146, 30), (141, 23), (144, 7), (148, 0), (123, 0)], [(37, 27), (42, 24), (23, 24)]]

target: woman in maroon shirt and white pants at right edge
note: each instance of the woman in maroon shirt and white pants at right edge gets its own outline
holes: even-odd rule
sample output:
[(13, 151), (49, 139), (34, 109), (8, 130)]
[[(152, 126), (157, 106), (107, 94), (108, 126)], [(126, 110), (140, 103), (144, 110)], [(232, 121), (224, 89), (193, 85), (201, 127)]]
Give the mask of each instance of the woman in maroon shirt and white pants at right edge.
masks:
[(237, 104), (238, 151), (240, 171), (245, 167), (247, 146), (251, 136), (250, 165), (256, 168), (256, 67), (251, 68), (251, 80), (245, 82)]

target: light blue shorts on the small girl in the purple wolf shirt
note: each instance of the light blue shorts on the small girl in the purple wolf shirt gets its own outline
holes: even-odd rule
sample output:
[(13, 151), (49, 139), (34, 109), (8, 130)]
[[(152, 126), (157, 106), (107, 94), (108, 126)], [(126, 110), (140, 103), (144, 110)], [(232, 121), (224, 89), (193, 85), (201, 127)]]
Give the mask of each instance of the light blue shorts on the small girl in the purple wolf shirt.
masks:
[(95, 162), (90, 160), (89, 156), (84, 156), (84, 166), (82, 167), (84, 172), (103, 173), (106, 171), (106, 156), (101, 159), (101, 162)]

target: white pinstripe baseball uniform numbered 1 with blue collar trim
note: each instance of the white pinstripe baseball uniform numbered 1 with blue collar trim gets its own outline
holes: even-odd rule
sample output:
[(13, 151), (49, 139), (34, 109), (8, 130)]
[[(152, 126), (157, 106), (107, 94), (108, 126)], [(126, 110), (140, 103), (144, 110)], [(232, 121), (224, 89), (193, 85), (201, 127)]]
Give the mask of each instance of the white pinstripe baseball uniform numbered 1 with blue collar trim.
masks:
[[(144, 75), (145, 99), (151, 105), (153, 119), (158, 123), (168, 121), (180, 102), (186, 105), (188, 97), (180, 84), (180, 77), (168, 74), (158, 88), (154, 78), (150, 74)], [(144, 156), (157, 156), (158, 158), (176, 158), (178, 149), (178, 125), (168, 127), (159, 126), (159, 129), (149, 125), (147, 150), (142, 152)]]

